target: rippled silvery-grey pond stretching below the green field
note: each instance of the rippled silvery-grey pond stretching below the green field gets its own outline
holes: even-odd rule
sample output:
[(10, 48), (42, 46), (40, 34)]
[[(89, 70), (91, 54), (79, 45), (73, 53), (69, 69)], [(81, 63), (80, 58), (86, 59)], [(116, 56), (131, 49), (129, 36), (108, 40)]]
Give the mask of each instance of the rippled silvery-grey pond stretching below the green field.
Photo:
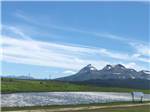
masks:
[[(2, 107), (67, 105), (131, 101), (130, 93), (117, 92), (35, 92), (1, 94)], [(150, 100), (150, 94), (144, 94)]]

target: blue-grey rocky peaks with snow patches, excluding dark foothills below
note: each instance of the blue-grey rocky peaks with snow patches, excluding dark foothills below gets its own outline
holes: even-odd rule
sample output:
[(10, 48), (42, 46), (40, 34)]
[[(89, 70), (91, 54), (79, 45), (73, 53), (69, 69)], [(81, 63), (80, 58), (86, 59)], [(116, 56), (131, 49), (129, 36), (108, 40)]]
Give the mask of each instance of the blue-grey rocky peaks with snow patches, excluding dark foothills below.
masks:
[(87, 80), (107, 80), (107, 79), (146, 79), (150, 80), (149, 71), (136, 71), (134, 69), (126, 68), (121, 64), (106, 65), (103, 69), (97, 70), (91, 64), (82, 68), (78, 73), (58, 78), (61, 81), (87, 81)]

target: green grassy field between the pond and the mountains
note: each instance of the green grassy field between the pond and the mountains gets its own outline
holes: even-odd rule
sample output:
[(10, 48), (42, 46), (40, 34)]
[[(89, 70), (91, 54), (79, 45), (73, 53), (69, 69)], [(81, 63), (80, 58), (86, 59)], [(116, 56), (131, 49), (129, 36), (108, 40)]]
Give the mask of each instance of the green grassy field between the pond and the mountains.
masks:
[(1, 92), (51, 92), (51, 91), (99, 91), (99, 92), (132, 92), (142, 91), (150, 93), (150, 90), (98, 87), (91, 85), (78, 85), (49, 80), (18, 80), (10, 78), (1, 79)]

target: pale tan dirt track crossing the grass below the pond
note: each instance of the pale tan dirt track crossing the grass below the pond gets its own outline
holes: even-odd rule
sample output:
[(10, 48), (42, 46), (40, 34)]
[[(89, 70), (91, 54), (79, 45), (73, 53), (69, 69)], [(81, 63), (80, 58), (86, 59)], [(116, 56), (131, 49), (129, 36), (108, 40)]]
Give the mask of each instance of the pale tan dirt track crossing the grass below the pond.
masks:
[[(137, 106), (150, 106), (150, 103), (143, 104), (120, 104), (120, 105), (106, 105), (106, 106), (85, 106), (85, 107), (68, 107), (68, 108), (55, 108), (55, 109), (36, 109), (36, 110), (19, 110), (17, 112), (72, 112), (72, 111), (84, 111), (95, 109), (111, 109), (111, 108), (124, 108), (124, 107), (137, 107)], [(16, 111), (7, 111), (16, 112)]]

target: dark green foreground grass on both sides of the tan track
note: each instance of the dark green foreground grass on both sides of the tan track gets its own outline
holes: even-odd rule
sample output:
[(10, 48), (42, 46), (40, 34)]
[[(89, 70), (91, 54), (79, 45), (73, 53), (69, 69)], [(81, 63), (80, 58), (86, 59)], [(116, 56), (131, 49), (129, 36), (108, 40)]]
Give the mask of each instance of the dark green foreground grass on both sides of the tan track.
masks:
[[(148, 103), (146, 101), (144, 103)], [(139, 102), (112, 102), (112, 103), (100, 103), (100, 104), (78, 104), (78, 105), (47, 105), (47, 106), (27, 106), (27, 107), (2, 107), (2, 111), (21, 111), (21, 110), (50, 110), (50, 109), (60, 109), (60, 108), (75, 108), (75, 107), (89, 107), (89, 106), (113, 106), (113, 105), (125, 105), (125, 104), (140, 104)], [(136, 110), (136, 111), (134, 111)], [(149, 112), (149, 106), (137, 106), (137, 107), (113, 107), (107, 109), (96, 109), (96, 110), (80, 110), (72, 112)]]

